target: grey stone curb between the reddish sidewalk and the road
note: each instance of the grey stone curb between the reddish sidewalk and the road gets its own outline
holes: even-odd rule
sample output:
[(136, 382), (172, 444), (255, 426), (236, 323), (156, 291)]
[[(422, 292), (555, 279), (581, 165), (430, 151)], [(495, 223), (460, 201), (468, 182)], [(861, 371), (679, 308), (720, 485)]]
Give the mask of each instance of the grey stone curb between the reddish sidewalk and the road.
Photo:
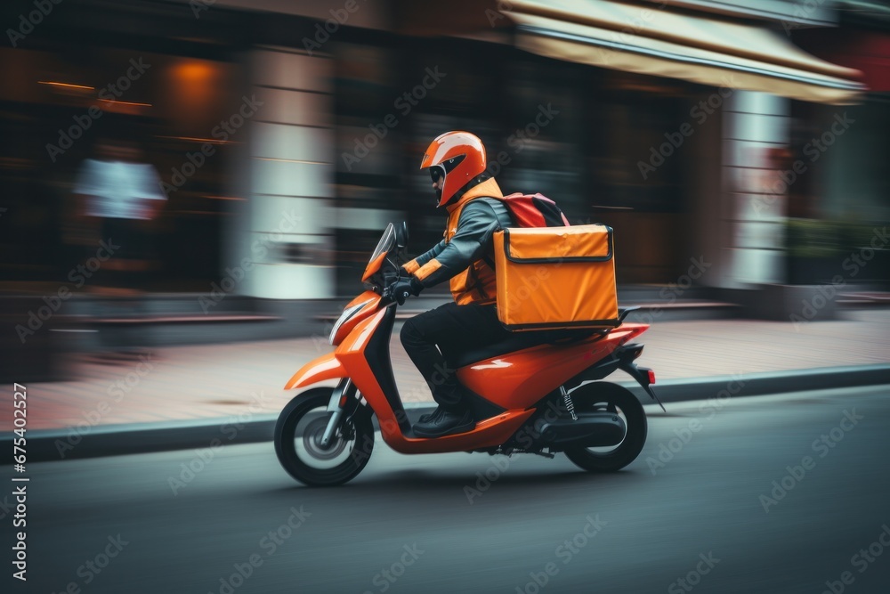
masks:
[[(652, 403), (635, 382), (617, 382), (628, 387), (644, 404)], [(857, 365), (815, 370), (792, 370), (710, 378), (669, 379), (655, 385), (663, 403), (724, 399), (821, 390), (838, 387), (890, 385), (890, 365)], [(406, 406), (409, 419), (433, 411), (433, 404)], [(256, 415), (246, 421), (196, 419), (163, 423), (134, 423), (92, 427), (79, 436), (69, 428), (28, 431), (28, 461), (75, 460), (101, 456), (166, 452), (170, 450), (216, 450), (223, 445), (271, 442), (278, 415)], [(375, 419), (376, 427), (376, 419)], [(79, 436), (79, 439), (77, 437)], [(0, 434), (0, 449), (12, 450), (10, 432)], [(272, 447), (270, 444), (270, 453)]]

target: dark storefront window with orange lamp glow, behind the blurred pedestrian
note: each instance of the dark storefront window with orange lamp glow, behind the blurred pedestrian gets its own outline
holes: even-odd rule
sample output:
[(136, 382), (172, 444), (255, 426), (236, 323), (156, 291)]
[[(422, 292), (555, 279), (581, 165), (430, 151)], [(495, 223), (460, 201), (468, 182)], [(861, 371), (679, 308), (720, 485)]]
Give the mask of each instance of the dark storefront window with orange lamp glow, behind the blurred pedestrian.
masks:
[[(217, 276), (223, 205), (239, 199), (225, 190), (226, 153), (246, 140), (221, 126), (239, 107), (235, 65), (98, 45), (2, 50), (0, 64), (11, 78), (0, 87), (2, 281), (66, 281), (109, 239), (103, 216), (136, 217), (151, 271), (142, 289), (203, 288)], [(147, 171), (150, 190), (134, 174)], [(80, 193), (102, 185), (107, 201), (156, 193), (163, 207), (91, 209)]]

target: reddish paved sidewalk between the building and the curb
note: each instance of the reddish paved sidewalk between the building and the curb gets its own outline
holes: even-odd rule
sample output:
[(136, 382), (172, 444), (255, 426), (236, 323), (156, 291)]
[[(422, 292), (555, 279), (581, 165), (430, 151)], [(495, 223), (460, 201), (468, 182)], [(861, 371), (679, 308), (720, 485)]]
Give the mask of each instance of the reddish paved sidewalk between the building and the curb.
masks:
[[(646, 348), (638, 362), (668, 383), (840, 366), (884, 364), (890, 369), (890, 309), (843, 315), (842, 321), (804, 323), (797, 330), (790, 322), (777, 321), (656, 320), (639, 339)], [(287, 379), (331, 348), (327, 337), (313, 337), (171, 346), (140, 363), (105, 364), (77, 355), (71, 361), (76, 379), (26, 385), (27, 428), (80, 425), (83, 433), (119, 424), (268, 418), (294, 395), (282, 389)], [(432, 403), (397, 336), (392, 361), (406, 407)], [(627, 379), (623, 373), (613, 378)], [(12, 410), (8, 405), (0, 411), (0, 434), (12, 431)]]

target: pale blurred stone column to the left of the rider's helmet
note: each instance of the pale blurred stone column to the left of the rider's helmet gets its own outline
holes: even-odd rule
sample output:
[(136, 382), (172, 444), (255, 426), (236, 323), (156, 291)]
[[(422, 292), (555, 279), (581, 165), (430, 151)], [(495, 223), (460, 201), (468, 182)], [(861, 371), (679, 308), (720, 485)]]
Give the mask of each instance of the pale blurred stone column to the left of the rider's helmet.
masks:
[(251, 91), (263, 104), (250, 122), (240, 174), (249, 201), (235, 224), (254, 264), (241, 292), (333, 297), (333, 61), (257, 49), (248, 63)]

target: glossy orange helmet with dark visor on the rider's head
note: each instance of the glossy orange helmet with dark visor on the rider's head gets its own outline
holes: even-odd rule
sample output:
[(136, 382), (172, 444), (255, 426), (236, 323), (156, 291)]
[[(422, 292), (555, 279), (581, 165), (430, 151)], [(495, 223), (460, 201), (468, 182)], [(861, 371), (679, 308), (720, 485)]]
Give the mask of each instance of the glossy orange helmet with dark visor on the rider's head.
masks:
[(421, 169), (430, 169), (433, 181), (445, 177), (439, 204), (441, 207), (454, 199), (457, 191), (485, 171), (485, 146), (479, 137), (469, 132), (446, 132), (437, 136), (426, 149)]

